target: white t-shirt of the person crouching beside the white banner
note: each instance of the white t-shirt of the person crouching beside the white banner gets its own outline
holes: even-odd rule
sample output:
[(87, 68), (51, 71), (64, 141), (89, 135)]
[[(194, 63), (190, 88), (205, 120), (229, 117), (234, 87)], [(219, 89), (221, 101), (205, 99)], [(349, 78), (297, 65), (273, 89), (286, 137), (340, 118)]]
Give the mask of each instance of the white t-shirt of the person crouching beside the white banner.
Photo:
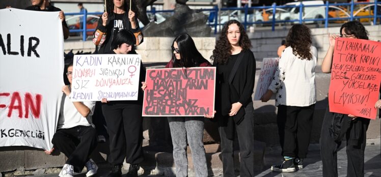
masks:
[(90, 109), (89, 115), (84, 117), (78, 112), (68, 96), (65, 95), (64, 98), (61, 101), (60, 118), (58, 120), (57, 129), (68, 129), (75, 126), (93, 126), (91, 115), (94, 113), (95, 101), (83, 102)]

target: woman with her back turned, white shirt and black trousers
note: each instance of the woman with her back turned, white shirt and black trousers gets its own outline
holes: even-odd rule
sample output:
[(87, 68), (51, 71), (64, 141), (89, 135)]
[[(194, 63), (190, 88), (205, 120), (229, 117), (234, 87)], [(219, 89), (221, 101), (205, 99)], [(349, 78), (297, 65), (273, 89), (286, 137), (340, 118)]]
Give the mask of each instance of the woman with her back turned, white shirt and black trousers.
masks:
[(296, 171), (295, 167), (303, 168), (310, 144), (316, 103), (317, 50), (312, 46), (311, 30), (303, 24), (295, 24), (290, 28), (286, 46), (273, 80), (261, 100), (267, 102), (276, 94), (283, 160), (271, 166), (271, 170), (292, 172)]

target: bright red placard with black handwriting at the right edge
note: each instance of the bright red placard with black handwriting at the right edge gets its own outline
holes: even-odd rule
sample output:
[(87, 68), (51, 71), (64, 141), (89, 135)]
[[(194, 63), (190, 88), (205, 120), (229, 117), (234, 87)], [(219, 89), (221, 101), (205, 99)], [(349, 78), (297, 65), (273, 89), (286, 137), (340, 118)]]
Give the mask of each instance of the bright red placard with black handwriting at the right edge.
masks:
[(381, 83), (381, 43), (338, 38), (331, 69), (331, 112), (375, 119)]

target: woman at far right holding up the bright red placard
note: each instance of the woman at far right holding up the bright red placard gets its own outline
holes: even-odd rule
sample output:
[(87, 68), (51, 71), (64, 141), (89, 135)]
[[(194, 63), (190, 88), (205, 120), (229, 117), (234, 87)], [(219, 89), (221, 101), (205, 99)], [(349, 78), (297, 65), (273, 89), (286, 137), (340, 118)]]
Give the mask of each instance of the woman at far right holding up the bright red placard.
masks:
[[(350, 21), (341, 26), (340, 35), (329, 35), (330, 47), (321, 64), (321, 71), (324, 73), (331, 73), (335, 39), (339, 37), (368, 40), (368, 32), (360, 22)], [(320, 134), (323, 176), (338, 176), (337, 151), (345, 135), (348, 158), (347, 176), (364, 176), (364, 151), (369, 121), (369, 119), (351, 114), (330, 112), (327, 105)]]

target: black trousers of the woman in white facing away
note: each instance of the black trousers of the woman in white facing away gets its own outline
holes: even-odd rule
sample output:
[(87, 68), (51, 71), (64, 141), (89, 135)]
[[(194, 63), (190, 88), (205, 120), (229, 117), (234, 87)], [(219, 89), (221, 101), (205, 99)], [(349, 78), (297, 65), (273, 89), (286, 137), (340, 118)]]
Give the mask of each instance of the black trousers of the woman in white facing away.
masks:
[(306, 158), (315, 104), (310, 106), (278, 106), (278, 133), (282, 156)]

